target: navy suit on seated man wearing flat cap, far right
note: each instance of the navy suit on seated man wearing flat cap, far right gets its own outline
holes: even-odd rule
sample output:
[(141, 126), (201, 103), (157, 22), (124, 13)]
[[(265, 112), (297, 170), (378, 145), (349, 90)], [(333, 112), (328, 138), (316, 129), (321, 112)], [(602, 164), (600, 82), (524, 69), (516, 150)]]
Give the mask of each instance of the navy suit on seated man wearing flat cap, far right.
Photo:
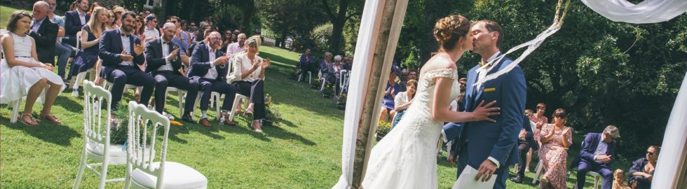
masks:
[(580, 148), (580, 154), (573, 159), (570, 167), (578, 167), (577, 172), (577, 187), (583, 188), (585, 185), (585, 179), (587, 172), (597, 172), (604, 176), (604, 189), (611, 189), (613, 185), (613, 171), (611, 171), (611, 163), (615, 160), (615, 141), (608, 144), (606, 148), (605, 155), (611, 155), (611, 161), (608, 163), (597, 162), (594, 160), (594, 152), (597, 151), (597, 146), (599, 146), (599, 141), (601, 141), (601, 133), (590, 132), (585, 137), (585, 141), (582, 143), (582, 148)]

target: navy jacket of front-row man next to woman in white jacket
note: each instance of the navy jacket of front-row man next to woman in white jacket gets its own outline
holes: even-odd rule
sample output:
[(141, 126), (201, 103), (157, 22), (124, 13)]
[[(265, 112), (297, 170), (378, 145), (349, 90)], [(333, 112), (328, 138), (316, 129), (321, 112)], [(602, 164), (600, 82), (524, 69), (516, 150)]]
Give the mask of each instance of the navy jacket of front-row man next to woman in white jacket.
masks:
[[(224, 55), (222, 50), (215, 51), (215, 58), (222, 57), (222, 55)], [(191, 53), (191, 68), (186, 73), (186, 77), (203, 78), (208, 73), (208, 69), (212, 69), (213, 61), (215, 59), (210, 59), (210, 46), (205, 45), (205, 42), (198, 43), (196, 48), (193, 48), (193, 53)], [(224, 65), (224, 68), (215, 66), (215, 69), (217, 69), (217, 78), (215, 79), (226, 82), (226, 73), (229, 73), (229, 65)]]

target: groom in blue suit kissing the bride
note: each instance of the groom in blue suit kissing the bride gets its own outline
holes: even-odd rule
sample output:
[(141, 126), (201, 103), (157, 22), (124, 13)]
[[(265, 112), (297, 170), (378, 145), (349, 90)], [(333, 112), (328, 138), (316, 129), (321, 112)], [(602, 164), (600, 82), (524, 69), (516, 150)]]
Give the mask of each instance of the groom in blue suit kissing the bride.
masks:
[[(517, 137), (522, 129), (526, 98), (525, 78), (522, 69), (515, 66), (508, 73), (475, 86), (477, 81), (504, 69), (512, 60), (503, 58), (500, 62), (486, 64), (502, 54), (499, 46), (503, 41), (503, 31), (496, 22), (481, 20), (472, 26), (470, 32), (474, 51), (482, 56), (482, 62), (468, 72), (465, 111), (473, 111), (480, 102), (496, 101), (494, 107), (501, 107), (501, 115), (491, 117), (496, 123), (477, 121), (462, 123), (462, 126), (458, 123), (444, 126), (444, 137), (455, 140), (449, 161), (454, 163), (458, 160), (458, 176), (469, 165), (479, 172), (477, 178), (470, 179), (487, 181), (497, 174), (494, 188), (505, 188), (508, 166), (517, 163)], [(491, 66), (493, 69), (487, 73)]]

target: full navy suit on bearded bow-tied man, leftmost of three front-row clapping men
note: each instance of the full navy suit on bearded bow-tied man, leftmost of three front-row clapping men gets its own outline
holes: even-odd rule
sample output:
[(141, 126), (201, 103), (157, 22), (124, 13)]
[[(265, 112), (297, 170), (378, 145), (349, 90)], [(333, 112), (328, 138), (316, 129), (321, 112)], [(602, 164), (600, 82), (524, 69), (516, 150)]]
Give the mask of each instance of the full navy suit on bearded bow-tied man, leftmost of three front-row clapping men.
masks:
[[(112, 83), (112, 107), (115, 109), (121, 100), (124, 85), (143, 86), (141, 91), (141, 104), (148, 105), (150, 97), (155, 88), (155, 80), (149, 73), (145, 73), (138, 66), (134, 65), (120, 65), (122, 62), (121, 52), (124, 49), (122, 45), (121, 31), (119, 29), (109, 29), (100, 36), (100, 43), (98, 44), (98, 57), (102, 60), (102, 69), (100, 70), (100, 77)], [(130, 49), (128, 52), (134, 57), (132, 62), (142, 65), (145, 62), (144, 53), (136, 55), (134, 52), (134, 45), (141, 44), (141, 40), (135, 36), (129, 35)]]

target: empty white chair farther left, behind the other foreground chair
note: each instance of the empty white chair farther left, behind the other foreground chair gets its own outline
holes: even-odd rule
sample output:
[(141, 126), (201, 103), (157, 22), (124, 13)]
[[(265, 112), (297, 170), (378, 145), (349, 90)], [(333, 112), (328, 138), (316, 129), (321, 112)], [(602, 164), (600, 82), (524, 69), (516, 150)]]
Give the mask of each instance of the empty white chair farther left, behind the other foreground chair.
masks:
[[(83, 155), (73, 188), (79, 188), (86, 167), (100, 176), (98, 188), (105, 188), (105, 182), (124, 181), (124, 178), (107, 179), (109, 165), (123, 165), (126, 162), (123, 146), (110, 144), (111, 99), (112, 95), (104, 88), (88, 80), (83, 81)], [(104, 115), (100, 109), (102, 106), (107, 106)], [(88, 164), (87, 160), (97, 162)], [(101, 167), (101, 171), (98, 172), (95, 167)]]

